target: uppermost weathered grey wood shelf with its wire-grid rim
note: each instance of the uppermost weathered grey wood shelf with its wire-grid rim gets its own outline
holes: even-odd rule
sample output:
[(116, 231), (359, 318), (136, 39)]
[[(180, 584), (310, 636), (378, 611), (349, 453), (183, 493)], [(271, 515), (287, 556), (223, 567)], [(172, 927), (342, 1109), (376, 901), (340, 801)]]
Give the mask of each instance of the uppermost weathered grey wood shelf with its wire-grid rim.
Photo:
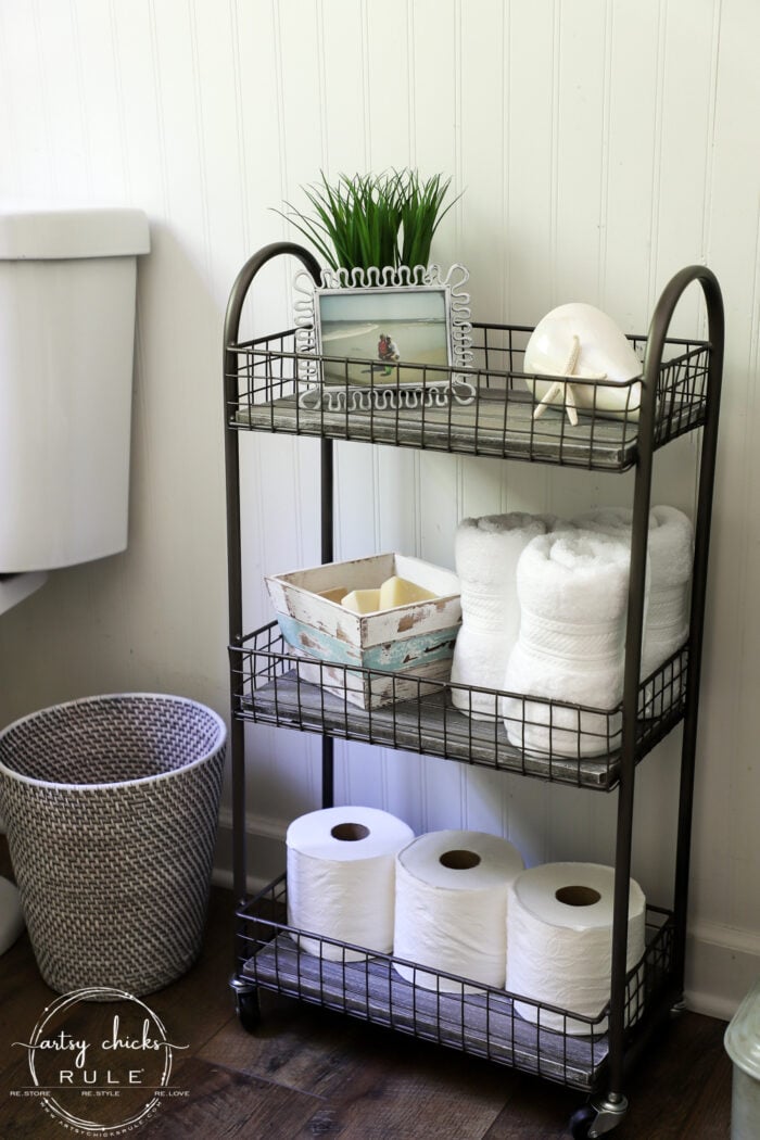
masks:
[[(594, 382), (580, 382), (581, 386), (585, 383), (589, 407), (579, 409), (575, 425), (555, 407), (534, 417), (537, 398), (529, 390), (534, 377), (518, 370), (526, 335), (528, 331), (520, 327), (476, 325), (474, 351), (479, 366), (456, 372), (456, 377), (474, 389), (472, 402), (451, 398), (439, 405), (433, 389), (440, 385), (441, 374), (453, 378), (455, 373), (420, 369), (419, 405), (406, 407), (400, 398), (395, 408), (357, 408), (356, 389), (348, 381), (343, 388), (333, 383), (332, 397), (320, 401), (313, 374), (328, 358), (296, 352), (291, 333), (252, 341), (235, 349), (236, 370), (230, 378), (236, 383), (236, 397), (228, 404), (229, 426), (595, 471), (634, 466), (639, 443), (638, 415), (622, 413), (614, 418), (594, 410)], [(645, 341), (632, 340), (643, 351)], [(670, 341), (668, 345), (671, 356), (663, 361), (657, 377), (655, 447), (700, 426), (705, 415), (708, 345), (687, 341)], [(303, 378), (304, 366), (308, 380)], [(622, 385), (623, 392), (632, 383)], [(370, 390), (368, 385), (365, 392)], [(398, 385), (399, 392), (403, 390)], [(304, 406), (304, 397), (305, 404), (311, 405), (313, 399), (319, 406)]]

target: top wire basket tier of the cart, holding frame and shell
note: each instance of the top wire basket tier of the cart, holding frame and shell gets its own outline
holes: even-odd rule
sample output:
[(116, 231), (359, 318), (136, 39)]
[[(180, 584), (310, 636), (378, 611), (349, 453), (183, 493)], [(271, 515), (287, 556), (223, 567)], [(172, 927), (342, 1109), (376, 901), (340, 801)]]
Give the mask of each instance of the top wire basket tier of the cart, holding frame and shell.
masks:
[[(605, 410), (610, 384), (603, 381), (557, 381), (522, 370), (531, 332), (521, 325), (475, 324), (474, 367), (404, 363), (403, 378), (401, 365), (378, 377), (369, 359), (299, 352), (294, 329), (260, 337), (230, 350), (228, 422), (244, 430), (589, 470), (631, 467), (639, 380), (615, 383), (611, 414)], [(643, 358), (646, 339), (630, 341)], [(665, 351), (657, 375), (655, 447), (702, 424), (706, 405), (709, 345), (668, 340)], [(361, 383), (357, 369), (367, 373)], [(555, 382), (554, 402), (545, 408), (541, 396)]]

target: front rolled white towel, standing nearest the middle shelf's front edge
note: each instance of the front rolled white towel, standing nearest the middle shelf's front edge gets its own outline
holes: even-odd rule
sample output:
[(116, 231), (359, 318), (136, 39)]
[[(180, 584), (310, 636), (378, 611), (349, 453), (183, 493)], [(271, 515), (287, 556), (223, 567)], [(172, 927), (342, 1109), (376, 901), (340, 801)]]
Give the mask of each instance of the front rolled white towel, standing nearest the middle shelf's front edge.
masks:
[[(570, 705), (614, 709), (622, 698), (630, 547), (605, 534), (534, 538), (517, 565), (522, 620), (504, 687)], [(598, 756), (620, 740), (606, 715), (508, 697), (513, 744), (554, 756)]]

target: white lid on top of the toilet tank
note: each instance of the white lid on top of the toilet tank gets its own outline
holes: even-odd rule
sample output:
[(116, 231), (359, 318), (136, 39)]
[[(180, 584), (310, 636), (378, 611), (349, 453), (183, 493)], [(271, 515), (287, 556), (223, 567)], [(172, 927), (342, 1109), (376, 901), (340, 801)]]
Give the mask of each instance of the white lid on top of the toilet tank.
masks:
[(117, 258), (149, 250), (148, 219), (141, 210), (7, 209), (0, 203), (1, 261)]

